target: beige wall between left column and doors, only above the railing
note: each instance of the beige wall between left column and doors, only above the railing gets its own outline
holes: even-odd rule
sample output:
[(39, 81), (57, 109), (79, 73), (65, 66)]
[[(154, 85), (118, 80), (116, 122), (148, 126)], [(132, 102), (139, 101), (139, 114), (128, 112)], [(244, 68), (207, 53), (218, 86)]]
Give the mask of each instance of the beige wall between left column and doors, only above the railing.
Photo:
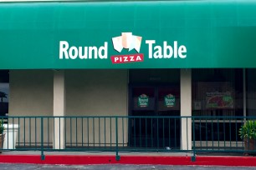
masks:
[(127, 70), (69, 70), (66, 115), (127, 115)]

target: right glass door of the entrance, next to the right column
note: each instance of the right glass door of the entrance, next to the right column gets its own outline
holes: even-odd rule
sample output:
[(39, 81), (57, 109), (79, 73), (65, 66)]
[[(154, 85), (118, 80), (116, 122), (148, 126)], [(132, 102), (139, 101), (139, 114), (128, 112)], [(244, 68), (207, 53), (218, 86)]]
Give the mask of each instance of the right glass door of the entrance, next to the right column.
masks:
[(180, 87), (157, 87), (157, 147), (180, 148)]

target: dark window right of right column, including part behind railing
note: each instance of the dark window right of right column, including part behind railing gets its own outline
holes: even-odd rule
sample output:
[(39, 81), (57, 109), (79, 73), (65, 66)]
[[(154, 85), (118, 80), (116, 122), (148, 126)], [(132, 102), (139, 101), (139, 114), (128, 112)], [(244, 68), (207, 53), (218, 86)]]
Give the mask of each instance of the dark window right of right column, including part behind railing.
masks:
[(192, 116), (196, 141), (240, 140), (242, 122), (229, 117), (243, 116), (243, 69), (193, 69)]

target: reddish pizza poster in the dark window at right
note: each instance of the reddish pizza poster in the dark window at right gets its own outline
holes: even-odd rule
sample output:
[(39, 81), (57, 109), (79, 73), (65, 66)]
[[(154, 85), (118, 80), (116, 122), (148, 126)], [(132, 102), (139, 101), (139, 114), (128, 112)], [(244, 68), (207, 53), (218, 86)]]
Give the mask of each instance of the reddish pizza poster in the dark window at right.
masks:
[(233, 108), (232, 92), (207, 92), (207, 108)]

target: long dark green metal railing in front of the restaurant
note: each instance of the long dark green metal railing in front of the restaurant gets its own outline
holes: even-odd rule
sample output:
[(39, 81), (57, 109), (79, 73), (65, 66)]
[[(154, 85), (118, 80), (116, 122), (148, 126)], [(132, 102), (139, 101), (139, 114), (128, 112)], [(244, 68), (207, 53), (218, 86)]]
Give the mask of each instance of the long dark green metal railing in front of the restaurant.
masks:
[(18, 128), (6, 126), (0, 151), (40, 151), (42, 159), (45, 151), (115, 152), (117, 160), (120, 152), (255, 153), (244, 151), (238, 131), (256, 117), (6, 118)]

